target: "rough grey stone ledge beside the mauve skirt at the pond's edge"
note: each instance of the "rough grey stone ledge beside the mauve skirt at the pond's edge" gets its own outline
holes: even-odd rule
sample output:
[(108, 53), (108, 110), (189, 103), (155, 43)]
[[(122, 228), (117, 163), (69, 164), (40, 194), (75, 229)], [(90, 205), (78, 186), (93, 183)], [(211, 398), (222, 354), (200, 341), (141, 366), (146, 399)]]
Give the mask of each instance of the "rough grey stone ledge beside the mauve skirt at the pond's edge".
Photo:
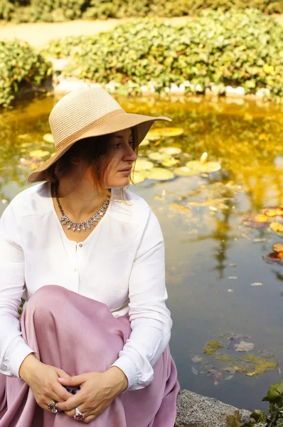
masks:
[[(233, 415), (237, 408), (217, 399), (201, 396), (193, 391), (181, 390), (177, 398), (175, 427), (220, 427), (227, 415)], [(250, 421), (250, 411), (240, 410), (241, 421)]]

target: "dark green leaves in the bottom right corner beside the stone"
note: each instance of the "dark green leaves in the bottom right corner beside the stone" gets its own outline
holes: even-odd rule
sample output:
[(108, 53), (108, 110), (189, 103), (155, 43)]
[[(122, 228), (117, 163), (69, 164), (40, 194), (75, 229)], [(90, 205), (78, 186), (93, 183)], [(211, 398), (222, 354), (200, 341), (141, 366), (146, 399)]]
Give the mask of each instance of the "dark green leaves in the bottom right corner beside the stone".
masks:
[(282, 427), (283, 426), (283, 381), (280, 384), (272, 384), (267, 396), (262, 401), (269, 402), (267, 413), (256, 410), (251, 413), (252, 421), (240, 423), (240, 413), (235, 411), (234, 415), (228, 415), (229, 427)]

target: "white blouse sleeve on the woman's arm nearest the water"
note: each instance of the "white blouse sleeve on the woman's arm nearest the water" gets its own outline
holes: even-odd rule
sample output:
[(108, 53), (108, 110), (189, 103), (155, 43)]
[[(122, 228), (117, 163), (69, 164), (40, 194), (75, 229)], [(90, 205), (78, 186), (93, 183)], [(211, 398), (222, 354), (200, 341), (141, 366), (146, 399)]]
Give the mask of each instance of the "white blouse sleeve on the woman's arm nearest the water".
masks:
[(171, 336), (171, 315), (166, 307), (164, 238), (152, 211), (129, 279), (129, 320), (132, 333), (114, 366), (127, 376), (127, 390), (143, 389), (154, 377), (154, 364)]

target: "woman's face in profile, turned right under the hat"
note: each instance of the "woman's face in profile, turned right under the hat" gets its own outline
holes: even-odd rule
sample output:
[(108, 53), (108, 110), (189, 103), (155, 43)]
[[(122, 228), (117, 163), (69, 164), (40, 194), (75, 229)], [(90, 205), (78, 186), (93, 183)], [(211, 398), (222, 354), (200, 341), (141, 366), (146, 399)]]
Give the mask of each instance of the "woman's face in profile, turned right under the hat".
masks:
[(109, 135), (108, 141), (112, 155), (106, 171), (106, 188), (127, 186), (132, 165), (137, 160), (132, 129), (114, 132)]

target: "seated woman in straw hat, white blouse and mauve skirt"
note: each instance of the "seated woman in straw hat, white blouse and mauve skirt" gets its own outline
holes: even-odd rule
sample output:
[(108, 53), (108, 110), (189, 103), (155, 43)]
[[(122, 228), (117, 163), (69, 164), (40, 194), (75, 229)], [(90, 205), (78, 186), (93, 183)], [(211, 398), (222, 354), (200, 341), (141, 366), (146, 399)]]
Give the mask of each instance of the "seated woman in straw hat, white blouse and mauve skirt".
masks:
[(173, 427), (164, 240), (127, 191), (155, 120), (170, 119), (126, 113), (102, 88), (50, 113), (55, 154), (28, 178), (44, 182), (1, 218), (1, 427)]

